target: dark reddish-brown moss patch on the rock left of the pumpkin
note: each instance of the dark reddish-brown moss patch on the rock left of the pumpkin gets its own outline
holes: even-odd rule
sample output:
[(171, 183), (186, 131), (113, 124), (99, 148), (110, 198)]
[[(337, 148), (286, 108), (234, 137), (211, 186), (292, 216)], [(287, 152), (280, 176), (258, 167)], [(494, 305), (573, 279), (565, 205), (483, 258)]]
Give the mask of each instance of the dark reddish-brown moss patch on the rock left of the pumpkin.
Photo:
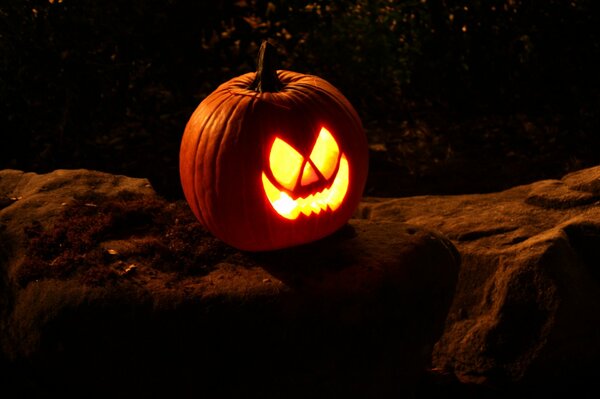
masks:
[(140, 269), (202, 275), (235, 253), (207, 233), (183, 201), (131, 194), (78, 197), (52, 226), (29, 225), (18, 284), (47, 278), (116, 284)]

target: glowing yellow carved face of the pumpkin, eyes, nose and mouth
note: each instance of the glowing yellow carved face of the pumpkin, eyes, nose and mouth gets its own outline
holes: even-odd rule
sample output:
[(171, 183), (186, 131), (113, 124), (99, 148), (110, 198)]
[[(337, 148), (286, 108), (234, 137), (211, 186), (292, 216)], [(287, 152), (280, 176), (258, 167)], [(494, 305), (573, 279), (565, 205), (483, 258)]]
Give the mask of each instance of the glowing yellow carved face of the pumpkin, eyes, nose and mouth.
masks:
[[(273, 209), (286, 219), (335, 211), (348, 191), (348, 159), (324, 127), (308, 157), (276, 137), (269, 151), (269, 168), (275, 182), (263, 172), (263, 188)], [(314, 190), (294, 195), (306, 193), (302, 188), (309, 187)]]

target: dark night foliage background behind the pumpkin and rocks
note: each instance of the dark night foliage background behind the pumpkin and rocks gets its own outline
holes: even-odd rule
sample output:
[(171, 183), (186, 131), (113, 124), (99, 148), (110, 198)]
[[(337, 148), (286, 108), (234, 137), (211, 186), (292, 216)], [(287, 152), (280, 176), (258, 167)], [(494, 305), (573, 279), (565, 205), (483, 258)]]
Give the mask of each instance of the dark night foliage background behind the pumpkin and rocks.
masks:
[(593, 0), (3, 0), (0, 169), (179, 187), (187, 119), (260, 42), (354, 104), (367, 195), (500, 190), (600, 161)]

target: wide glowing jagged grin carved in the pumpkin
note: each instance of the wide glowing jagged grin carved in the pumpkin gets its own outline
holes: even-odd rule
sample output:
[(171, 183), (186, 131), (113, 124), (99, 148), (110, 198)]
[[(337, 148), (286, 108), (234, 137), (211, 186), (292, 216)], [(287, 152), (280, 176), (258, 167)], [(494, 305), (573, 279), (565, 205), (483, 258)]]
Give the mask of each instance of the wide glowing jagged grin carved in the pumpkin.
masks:
[(342, 154), (337, 175), (331, 186), (305, 198), (293, 199), (286, 192), (275, 187), (264, 172), (262, 174), (263, 187), (273, 209), (286, 219), (296, 219), (301, 213), (306, 216), (310, 216), (312, 213), (319, 214), (321, 211), (326, 211), (327, 208), (335, 211), (342, 205), (348, 191), (350, 174), (348, 168), (348, 159)]

